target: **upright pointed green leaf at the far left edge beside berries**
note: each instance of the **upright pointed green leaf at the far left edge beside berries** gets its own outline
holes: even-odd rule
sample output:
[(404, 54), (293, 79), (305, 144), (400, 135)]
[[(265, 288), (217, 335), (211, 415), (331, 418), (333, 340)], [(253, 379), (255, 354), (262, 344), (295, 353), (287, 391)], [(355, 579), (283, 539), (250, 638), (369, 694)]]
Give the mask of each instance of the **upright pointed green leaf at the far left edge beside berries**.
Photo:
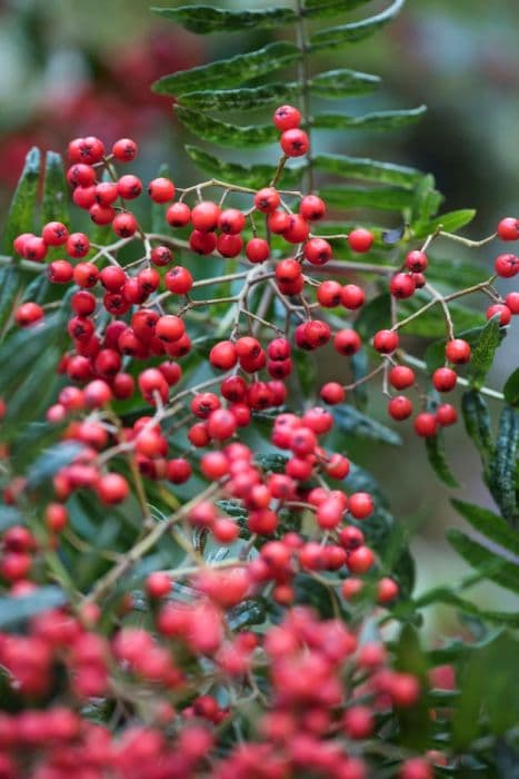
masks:
[(40, 179), (41, 155), (33, 146), (26, 157), (20, 180), (8, 211), (1, 248), (11, 255), (12, 241), (20, 233), (32, 233), (34, 229), (34, 209)]

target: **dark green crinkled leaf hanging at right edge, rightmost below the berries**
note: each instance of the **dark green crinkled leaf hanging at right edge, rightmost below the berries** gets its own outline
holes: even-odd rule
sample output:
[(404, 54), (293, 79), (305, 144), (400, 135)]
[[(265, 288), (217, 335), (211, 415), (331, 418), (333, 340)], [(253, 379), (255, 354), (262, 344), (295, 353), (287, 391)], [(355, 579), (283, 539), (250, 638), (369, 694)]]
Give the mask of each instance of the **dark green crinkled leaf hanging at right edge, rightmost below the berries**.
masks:
[(516, 453), (518, 437), (518, 414), (510, 406), (505, 406), (499, 420), (496, 450), (489, 464), (489, 489), (502, 515), (513, 525), (519, 522), (519, 512), (516, 503)]

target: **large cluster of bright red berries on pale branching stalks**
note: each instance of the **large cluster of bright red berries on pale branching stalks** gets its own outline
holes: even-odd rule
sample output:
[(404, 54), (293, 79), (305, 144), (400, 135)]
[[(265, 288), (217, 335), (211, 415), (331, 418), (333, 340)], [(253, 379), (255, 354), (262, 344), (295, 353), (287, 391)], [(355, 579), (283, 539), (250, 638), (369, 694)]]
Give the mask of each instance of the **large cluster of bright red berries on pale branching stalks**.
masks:
[[(282, 106), (273, 121), (283, 154), (277, 176), (259, 190), (216, 179), (181, 189), (166, 177), (144, 187), (117, 170), (134, 159), (132, 139), (118, 140), (108, 155), (98, 138), (74, 139), (67, 170), (72, 200), (106, 233), (111, 226), (114, 239), (97, 243), (50, 221), (40, 235), (14, 240), (24, 267), (68, 290), (62, 305), (70, 307), (70, 342), (57, 366), (62, 382), (47, 422), (77, 448), (53, 474), (52, 496), (36, 527), (17, 524), (3, 533), (0, 575), (13, 596), (46, 580), (49, 555), (78, 543), (70, 527), (77, 493), (94, 493), (108, 506), (137, 499), (142, 532), (124, 555), (106, 550), (108, 570), (88, 591), (74, 593), (69, 607), (31, 620), (27, 634), (0, 634), (2, 673), (16, 701), (0, 718), (6, 779), (19, 771), (36, 779), (70, 771), (84, 779), (281, 779), (303, 769), (363, 779), (369, 761), (357, 742), (368, 742), (390, 720), (389, 729), (396, 727), (395, 712), (427, 692), (423, 680), (391, 670), (382, 639), (361, 639), (363, 620), (398, 601), (400, 586), (369, 540), (375, 496), (343, 490), (350, 462), (327, 446), (335, 425), (327, 406), (345, 403), (350, 389), (379, 376), (389, 415), (410, 417), (411, 400), (390, 391), (418, 387), (400, 328), (441, 304), (446, 364), (431, 382), (448, 393), (459, 381), (457, 366), (471, 355), (470, 344), (455, 337), (449, 302), (482, 292), (492, 298), (487, 316), (499, 315), (507, 325), (519, 313), (519, 293), (502, 300), (492, 277), (440, 295), (427, 280), (427, 248), (436, 234), (408, 252), (399, 268), (333, 260), (335, 241), (368, 253), (376, 236), (362, 227), (348, 235), (313, 233), (325, 201), (277, 188), (288, 158), (308, 151), (301, 115)], [(164, 234), (146, 231), (128, 208), (146, 189), (152, 204), (163, 206), (171, 228)], [(203, 199), (207, 189), (221, 195)], [(223, 207), (231, 196), (239, 198), (237, 206)], [(503, 219), (499, 237), (519, 239), (518, 224)], [(174, 265), (179, 252), (186, 264)], [(56, 253), (63, 256), (54, 259)], [(188, 267), (192, 253), (206, 256), (208, 268), (226, 259), (230, 267), (200, 277), (194, 264)], [(512, 277), (518, 263), (500, 255), (497, 276)], [(395, 303), (388, 328), (370, 339), (376, 367), (352, 384), (323, 384), (323, 405), (298, 407), (291, 391), (300, 351), (330, 343), (351, 357), (366, 345), (355, 329), (369, 293), (360, 286), (363, 267), (382, 277)], [(325, 273), (331, 278), (322, 280)], [(216, 296), (199, 297), (206, 287)], [(399, 321), (398, 302), (419, 288), (432, 303)], [(13, 318), (31, 328), (53, 309), (24, 300)], [(214, 338), (200, 343), (199, 317), (214, 327)], [(209, 377), (206, 372), (192, 379), (196, 348), (204, 353)], [(339, 377), (345, 362), (337, 363)], [(433, 436), (456, 422), (453, 405), (431, 410), (420, 391), (418, 400), (418, 435)], [(6, 414), (9, 398), (0, 402)], [(267, 456), (247, 437), (257, 422), (269, 425)], [(2, 456), (9, 460), (7, 447)], [(176, 485), (194, 485), (192, 499), (179, 503)], [(170, 507), (173, 501), (161, 522), (153, 517), (151, 494), (168, 495)], [(29, 513), (33, 497), (23, 474), (12, 476), (3, 492), (7, 504)], [(186, 552), (186, 564), (158, 566), (144, 579), (146, 625), (131, 623), (137, 601), (128, 595), (119, 598), (117, 620), (103, 624), (100, 605), (117, 599), (118, 583), (167, 535)], [(223, 551), (212, 564), (207, 544)], [(333, 619), (301, 605), (305, 580), (325, 589)], [(258, 601), (269, 603), (273, 617), (261, 632), (240, 629), (236, 614)], [(116, 736), (84, 713), (97, 699), (110, 709)], [(232, 746), (227, 731), (236, 726), (240, 732), (246, 702), (261, 713), (250, 738)], [(429, 779), (431, 763), (445, 759), (437, 752), (410, 756), (399, 776)]]

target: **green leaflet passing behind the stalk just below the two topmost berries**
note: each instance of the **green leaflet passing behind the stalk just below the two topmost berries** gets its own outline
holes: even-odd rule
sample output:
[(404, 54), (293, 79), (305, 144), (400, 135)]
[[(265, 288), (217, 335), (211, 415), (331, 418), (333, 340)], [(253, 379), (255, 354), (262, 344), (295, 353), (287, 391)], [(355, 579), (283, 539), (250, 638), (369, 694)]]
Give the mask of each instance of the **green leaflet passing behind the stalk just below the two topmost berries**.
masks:
[[(247, 167), (237, 162), (226, 162), (218, 157), (207, 154), (207, 151), (197, 146), (186, 146), (186, 151), (196, 165), (213, 178), (222, 179), (229, 184), (238, 184), (242, 187), (251, 187), (252, 189), (266, 187), (276, 172), (276, 168), (270, 165)], [(290, 170), (285, 169), (279, 186), (297, 186), (302, 169), (302, 167)]]

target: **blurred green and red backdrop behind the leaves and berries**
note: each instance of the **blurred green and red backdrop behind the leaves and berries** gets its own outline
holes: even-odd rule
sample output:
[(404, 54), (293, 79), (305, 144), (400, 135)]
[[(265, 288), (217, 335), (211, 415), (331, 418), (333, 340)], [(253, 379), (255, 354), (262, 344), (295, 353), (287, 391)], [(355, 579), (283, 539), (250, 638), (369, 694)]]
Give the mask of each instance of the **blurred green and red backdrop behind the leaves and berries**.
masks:
[[(219, 4), (250, 9), (268, 3)], [(369, 12), (386, 6), (373, 0)], [(326, 134), (319, 142), (431, 171), (449, 210), (478, 209), (468, 234), (490, 233), (500, 217), (519, 215), (518, 29), (517, 0), (408, 0), (393, 24), (350, 46), (346, 55), (328, 55), (326, 65), (382, 76), (378, 93), (348, 102), (351, 112), (425, 102), (428, 115), (405, 132)], [(171, 100), (153, 96), (149, 85), (177, 69), (257, 48), (271, 34), (250, 33), (247, 40), (241, 33), (192, 36), (153, 17), (146, 0), (0, 0), (0, 203), (7, 201), (31, 145), (63, 150), (77, 135), (100, 135), (108, 144), (134, 137), (141, 147), (137, 172), (152, 176), (168, 159), (176, 178), (186, 181), (193, 170), (182, 161), (184, 134)], [(459, 252), (452, 245), (446, 250)], [(490, 268), (497, 250), (471, 256)], [(491, 386), (518, 363), (519, 323), (510, 331)], [(456, 515), (429, 471), (421, 442), (409, 432), (405, 437), (398, 456), (390, 446), (368, 443), (356, 456), (380, 477), (397, 516), (422, 521), (416, 540), (420, 584), (452, 580), (452, 565), (458, 573), (462, 566), (442, 536)], [(447, 440), (463, 483), (460, 495), (490, 505), (479, 461), (459, 426), (447, 432)], [(501, 608), (508, 595), (487, 588), (481, 598)]]

